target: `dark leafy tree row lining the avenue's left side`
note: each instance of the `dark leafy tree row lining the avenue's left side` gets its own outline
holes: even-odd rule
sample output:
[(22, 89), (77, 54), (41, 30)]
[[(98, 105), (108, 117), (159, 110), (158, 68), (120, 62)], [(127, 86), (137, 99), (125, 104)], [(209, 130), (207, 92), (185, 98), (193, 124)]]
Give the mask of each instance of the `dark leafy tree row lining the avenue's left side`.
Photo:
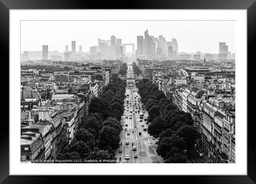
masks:
[(125, 81), (114, 78), (113, 83), (104, 88), (102, 96), (92, 99), (88, 117), (63, 153), (57, 155), (58, 160), (85, 159), (93, 160), (91, 163), (113, 163), (103, 160), (116, 159), (113, 150), (119, 148), (125, 86)]

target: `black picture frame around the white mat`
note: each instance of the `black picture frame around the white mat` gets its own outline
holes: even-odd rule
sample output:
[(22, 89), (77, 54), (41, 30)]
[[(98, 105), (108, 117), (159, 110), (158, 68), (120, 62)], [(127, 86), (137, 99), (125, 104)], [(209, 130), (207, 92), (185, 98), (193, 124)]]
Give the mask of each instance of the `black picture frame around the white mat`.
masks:
[[(125, 5), (122, 5), (122, 1), (87, 1), (87, 0), (0, 0), (0, 38), (1, 38), (1, 52), (4, 53), (6, 57), (5, 64), (2, 62), (2, 67), (4, 67), (6, 72), (9, 70), (9, 10), (10, 9), (246, 9), (247, 10), (247, 58), (249, 62), (247, 65), (247, 85), (253, 84), (255, 69), (255, 55), (254, 46), (256, 45), (256, 2), (255, 0), (147, 0), (147, 1), (127, 1)], [(246, 62), (246, 61), (245, 61)], [(0, 91), (1, 97), (4, 97), (4, 105), (1, 105), (2, 112), (6, 112), (9, 109), (8, 99), (9, 96), (9, 81), (3, 81), (2, 86), (4, 89)], [(246, 89), (245, 89), (246, 93)], [(193, 183), (255, 183), (256, 182), (256, 159), (255, 159), (255, 120), (251, 117), (253, 112), (252, 105), (255, 104), (256, 99), (253, 98), (254, 92), (253, 88), (251, 90), (247, 89), (247, 96), (250, 98), (250, 103), (247, 104), (247, 116), (245, 114), (245, 119), (247, 117), (247, 175), (191, 175), (191, 176), (171, 176), (172, 179), (177, 179), (178, 181), (187, 181)], [(9, 96), (11, 98), (11, 96)], [(247, 100), (246, 98), (244, 100)], [(11, 115), (11, 111), (9, 111)], [(250, 119), (250, 118), (251, 119)], [(5, 120), (5, 119), (3, 119)], [(246, 123), (246, 122), (237, 122)], [(33, 176), (14, 176), (9, 175), (9, 124), (7, 121), (2, 121), (2, 138), (1, 141), (1, 163), (0, 163), (0, 182), (3, 183), (53, 183), (54, 179), (57, 179), (57, 183), (74, 182), (86, 177), (86, 180), (97, 179), (97, 176), (43, 176), (43, 175), (33, 175)], [(28, 171), (29, 173), (29, 171)], [(146, 180), (151, 180), (154, 176), (147, 176)], [(162, 176), (161, 176), (162, 177)], [(104, 176), (104, 180), (108, 180), (109, 176)], [(98, 180), (98, 179), (97, 179)], [(143, 179), (144, 180), (144, 179)], [(146, 182), (145, 180), (145, 182)], [(163, 181), (163, 179), (161, 179)], [(169, 180), (169, 179), (168, 179)], [(196, 182), (195, 182), (196, 181)], [(114, 182), (118, 182), (115, 180)]]

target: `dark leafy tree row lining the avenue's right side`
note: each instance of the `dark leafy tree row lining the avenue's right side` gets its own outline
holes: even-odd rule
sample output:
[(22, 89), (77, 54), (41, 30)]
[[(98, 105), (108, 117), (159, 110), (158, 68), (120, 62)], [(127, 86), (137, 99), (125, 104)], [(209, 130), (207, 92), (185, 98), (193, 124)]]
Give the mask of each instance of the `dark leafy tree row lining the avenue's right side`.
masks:
[(183, 150), (191, 148), (196, 139), (191, 114), (178, 110), (148, 79), (139, 81), (138, 89), (152, 122), (148, 133), (159, 138), (157, 153), (165, 163), (185, 163)]

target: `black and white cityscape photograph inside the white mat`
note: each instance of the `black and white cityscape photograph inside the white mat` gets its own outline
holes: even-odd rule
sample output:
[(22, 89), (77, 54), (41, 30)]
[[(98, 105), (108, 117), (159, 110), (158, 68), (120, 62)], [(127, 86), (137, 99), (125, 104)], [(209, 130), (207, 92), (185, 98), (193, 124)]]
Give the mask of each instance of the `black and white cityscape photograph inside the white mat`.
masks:
[(235, 21), (20, 23), (20, 163), (236, 163)]

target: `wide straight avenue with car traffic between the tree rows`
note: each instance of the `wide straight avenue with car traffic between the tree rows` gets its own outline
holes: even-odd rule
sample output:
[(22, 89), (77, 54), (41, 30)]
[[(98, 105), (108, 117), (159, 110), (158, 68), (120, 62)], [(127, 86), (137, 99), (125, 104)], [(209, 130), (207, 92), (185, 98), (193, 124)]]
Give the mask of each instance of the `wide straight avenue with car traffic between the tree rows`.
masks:
[[(130, 70), (132, 75), (132, 66), (128, 66), (128, 79), (131, 78), (129, 76)], [(132, 76), (132, 78), (134, 78), (134, 76)], [(128, 82), (135, 84), (135, 80), (127, 80), (127, 84)], [(144, 109), (145, 113), (143, 113), (142, 103), (141, 101), (138, 102), (138, 98), (140, 100), (141, 96), (136, 90), (136, 86), (132, 87), (129, 86), (129, 84), (125, 88), (125, 95), (129, 94), (129, 97), (124, 100), (124, 115), (121, 118), (123, 130), (120, 133), (120, 138), (122, 141), (120, 149), (122, 149), (123, 151), (122, 153), (119, 153), (119, 149), (115, 150), (117, 159), (119, 160), (119, 158), (121, 157), (121, 162), (117, 163), (160, 163), (156, 154), (150, 146), (152, 145), (154, 148), (157, 147), (157, 145), (154, 143), (155, 140), (152, 139), (152, 136), (148, 134), (147, 130), (143, 130), (144, 128), (148, 129), (148, 125), (150, 123), (146, 124), (147, 121), (144, 120), (148, 117), (148, 112), (146, 111), (146, 109)], [(127, 103), (127, 100), (129, 100), (129, 103)], [(136, 109), (136, 105), (138, 109)], [(139, 110), (139, 105), (141, 110)], [(140, 121), (139, 118), (140, 114), (144, 114), (142, 121)], [(128, 117), (126, 118), (126, 116)], [(128, 126), (125, 126), (125, 124), (128, 124)], [(136, 127), (134, 127), (134, 125), (136, 125)], [(126, 131), (125, 128), (127, 129)], [(130, 132), (130, 135), (127, 135), (128, 131)], [(132, 131), (134, 131), (134, 133)], [(139, 132), (141, 132), (141, 135), (139, 135)], [(125, 144), (125, 141), (127, 140), (129, 141), (129, 144)], [(133, 151), (132, 143), (133, 146), (136, 146), (136, 151)], [(134, 158), (134, 154), (138, 154), (138, 158)], [(129, 159), (125, 160), (125, 155), (129, 155)]]

